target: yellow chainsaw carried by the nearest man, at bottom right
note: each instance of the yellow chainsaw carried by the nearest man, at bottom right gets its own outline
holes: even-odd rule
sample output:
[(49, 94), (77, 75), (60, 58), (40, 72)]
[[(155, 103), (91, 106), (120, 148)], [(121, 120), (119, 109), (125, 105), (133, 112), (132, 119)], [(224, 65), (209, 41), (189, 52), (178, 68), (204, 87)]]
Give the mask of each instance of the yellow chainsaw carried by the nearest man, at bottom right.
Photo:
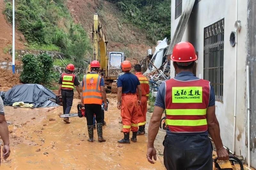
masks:
[(213, 160), (213, 170), (236, 170), (235, 164), (239, 164), (240, 170), (244, 170), (243, 163), (234, 155), (229, 155), (228, 161), (219, 161), (218, 157)]

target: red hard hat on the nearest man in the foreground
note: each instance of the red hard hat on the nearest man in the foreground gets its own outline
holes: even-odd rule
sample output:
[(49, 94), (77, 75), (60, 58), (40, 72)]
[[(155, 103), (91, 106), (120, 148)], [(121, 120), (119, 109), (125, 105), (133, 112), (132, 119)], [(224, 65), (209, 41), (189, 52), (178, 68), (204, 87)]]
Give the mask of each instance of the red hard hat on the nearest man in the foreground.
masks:
[(172, 51), (171, 60), (182, 63), (197, 60), (194, 46), (189, 42), (180, 42), (176, 44)]

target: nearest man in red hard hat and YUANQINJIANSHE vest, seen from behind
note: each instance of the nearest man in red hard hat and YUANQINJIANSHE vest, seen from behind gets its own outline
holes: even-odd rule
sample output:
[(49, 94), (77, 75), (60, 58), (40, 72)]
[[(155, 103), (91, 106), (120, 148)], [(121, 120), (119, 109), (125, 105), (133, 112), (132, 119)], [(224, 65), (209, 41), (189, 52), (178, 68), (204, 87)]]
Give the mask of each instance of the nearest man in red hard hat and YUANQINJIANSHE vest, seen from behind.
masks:
[(193, 67), (197, 60), (195, 48), (180, 42), (171, 55), (177, 75), (163, 82), (156, 96), (153, 115), (148, 127), (148, 161), (154, 164), (154, 140), (163, 111), (167, 125), (164, 138), (164, 166), (172, 170), (212, 169), (211, 135), (219, 160), (228, 160), (228, 152), (220, 138), (215, 116), (215, 94), (209, 81), (197, 78)]

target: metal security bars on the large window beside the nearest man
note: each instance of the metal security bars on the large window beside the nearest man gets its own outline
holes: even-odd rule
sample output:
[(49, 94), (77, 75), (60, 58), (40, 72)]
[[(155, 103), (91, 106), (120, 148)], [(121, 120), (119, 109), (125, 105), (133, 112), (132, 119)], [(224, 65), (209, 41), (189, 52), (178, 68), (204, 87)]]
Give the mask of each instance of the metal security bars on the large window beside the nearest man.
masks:
[(216, 101), (223, 102), (224, 18), (204, 28), (204, 79), (211, 82)]

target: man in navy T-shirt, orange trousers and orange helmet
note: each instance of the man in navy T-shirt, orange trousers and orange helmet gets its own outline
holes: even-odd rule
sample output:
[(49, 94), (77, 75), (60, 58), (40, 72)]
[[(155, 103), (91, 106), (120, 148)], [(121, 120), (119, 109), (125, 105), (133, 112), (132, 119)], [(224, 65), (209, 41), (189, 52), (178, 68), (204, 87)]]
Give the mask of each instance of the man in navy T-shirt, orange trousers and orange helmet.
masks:
[[(117, 142), (130, 144), (130, 131), (132, 131), (132, 142), (137, 142), (138, 107), (141, 104), (141, 87), (139, 79), (130, 73), (132, 64), (125, 60), (121, 63), (121, 67), (124, 74), (117, 81), (117, 109), (121, 109), (124, 138)], [(139, 100), (136, 95), (137, 89)]]

